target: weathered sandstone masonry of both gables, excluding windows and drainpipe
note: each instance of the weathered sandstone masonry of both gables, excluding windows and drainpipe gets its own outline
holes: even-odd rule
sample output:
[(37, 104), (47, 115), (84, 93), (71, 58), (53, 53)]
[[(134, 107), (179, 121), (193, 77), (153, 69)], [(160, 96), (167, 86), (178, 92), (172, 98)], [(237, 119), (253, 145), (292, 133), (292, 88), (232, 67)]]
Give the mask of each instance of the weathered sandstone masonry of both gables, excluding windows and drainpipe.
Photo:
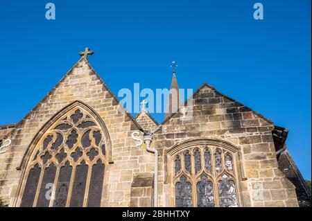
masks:
[[(94, 109), (110, 135), (112, 150), (107, 154), (112, 159), (105, 165), (101, 206), (153, 206), (154, 154), (145, 144), (136, 147), (131, 136), (134, 131), (153, 130), (157, 123), (146, 112), (135, 119), (127, 114), (87, 62), (74, 67), (21, 123), (0, 127), (0, 139), (12, 139), (12, 148), (0, 154), (0, 197), (17, 206), (13, 202), (24, 170), (16, 168), (27, 148), (40, 128), (76, 100)], [(297, 206), (295, 187), (277, 168), (274, 124), (207, 85), (193, 101), (189, 118), (175, 114), (153, 135), (153, 148), (159, 151), (159, 206), (175, 206), (173, 156), (168, 151), (198, 141), (222, 143), (225, 150), (235, 152), (234, 168), (241, 182), (236, 189), (242, 191), (237, 193), (242, 197), (239, 206)], [(183, 150), (189, 149), (186, 145)], [(191, 157), (193, 165), (193, 153)]]

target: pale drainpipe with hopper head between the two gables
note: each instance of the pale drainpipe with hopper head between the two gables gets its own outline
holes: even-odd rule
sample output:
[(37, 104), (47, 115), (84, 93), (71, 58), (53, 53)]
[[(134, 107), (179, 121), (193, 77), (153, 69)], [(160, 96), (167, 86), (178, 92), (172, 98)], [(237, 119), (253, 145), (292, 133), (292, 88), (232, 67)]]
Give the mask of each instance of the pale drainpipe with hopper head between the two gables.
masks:
[[(156, 132), (156, 131), (154, 131)], [(146, 150), (152, 152), (155, 156), (155, 174), (154, 174), (154, 207), (158, 207), (158, 151), (156, 148), (150, 148), (150, 143), (152, 143), (152, 134), (144, 134), (143, 141), (146, 144)]]

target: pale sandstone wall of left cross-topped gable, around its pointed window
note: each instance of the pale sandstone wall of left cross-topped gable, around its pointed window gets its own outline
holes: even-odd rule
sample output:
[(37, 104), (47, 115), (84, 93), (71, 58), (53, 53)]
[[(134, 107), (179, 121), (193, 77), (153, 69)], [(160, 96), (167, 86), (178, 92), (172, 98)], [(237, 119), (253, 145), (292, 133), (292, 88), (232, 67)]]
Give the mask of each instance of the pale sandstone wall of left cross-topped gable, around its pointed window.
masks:
[[(80, 100), (103, 119), (112, 142), (112, 161), (105, 172), (103, 206), (130, 206), (133, 177), (153, 171), (153, 154), (138, 149), (132, 130), (138, 125), (119, 106), (110, 89), (98, 77), (87, 60), (80, 60), (34, 109), (16, 125), (10, 136), (12, 145), (0, 154), (0, 197), (10, 206), (18, 206), (21, 175), (17, 170), (29, 145), (42, 126), (67, 105)], [(3, 130), (0, 130), (3, 133)]]

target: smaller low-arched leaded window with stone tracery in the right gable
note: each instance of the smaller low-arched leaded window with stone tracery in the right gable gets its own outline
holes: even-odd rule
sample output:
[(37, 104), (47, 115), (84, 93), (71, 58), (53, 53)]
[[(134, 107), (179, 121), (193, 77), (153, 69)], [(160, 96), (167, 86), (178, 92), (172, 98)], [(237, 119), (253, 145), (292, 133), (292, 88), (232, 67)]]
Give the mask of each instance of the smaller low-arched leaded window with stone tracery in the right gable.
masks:
[(173, 154), (174, 205), (239, 206), (234, 155), (214, 145), (190, 145)]

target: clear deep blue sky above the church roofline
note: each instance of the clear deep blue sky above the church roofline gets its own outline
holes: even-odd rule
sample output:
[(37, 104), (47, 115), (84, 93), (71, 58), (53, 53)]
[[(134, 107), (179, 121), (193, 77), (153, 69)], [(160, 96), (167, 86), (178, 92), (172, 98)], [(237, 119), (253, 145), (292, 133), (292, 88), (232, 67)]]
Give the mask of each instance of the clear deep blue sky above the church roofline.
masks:
[(176, 60), (180, 87), (208, 82), (290, 130), (288, 149), (311, 179), (310, 0), (49, 1), (0, 1), (0, 125), (21, 120), (85, 46), (115, 94), (135, 82), (169, 87)]

